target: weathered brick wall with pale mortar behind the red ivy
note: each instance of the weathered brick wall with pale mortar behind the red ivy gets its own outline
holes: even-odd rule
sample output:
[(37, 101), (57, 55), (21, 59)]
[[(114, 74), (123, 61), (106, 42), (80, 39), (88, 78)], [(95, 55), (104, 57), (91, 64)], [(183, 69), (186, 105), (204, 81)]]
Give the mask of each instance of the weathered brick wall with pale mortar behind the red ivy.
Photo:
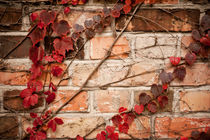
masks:
[[(0, 57), (27, 35), (30, 28), (27, 13), (32, 9), (47, 7), (49, 4), (47, 1), (11, 0), (11, 5), (8, 5), (8, 1), (0, 2)], [(115, 2), (107, 1), (108, 6)], [(96, 14), (95, 10), (103, 8), (103, 3), (103, 0), (89, 0), (85, 6), (72, 8), (71, 14), (60, 15), (59, 18), (65, 18), (70, 25), (81, 24), (93, 17)], [(84, 136), (101, 123), (110, 124), (108, 119), (118, 112), (119, 107), (133, 108), (138, 103), (139, 93), (149, 92), (150, 86), (157, 83), (159, 71), (112, 84), (107, 89), (100, 89), (99, 86), (120, 80), (128, 74), (128, 70), (129, 75), (134, 75), (165, 68), (171, 65), (170, 56), (184, 57), (186, 50), (182, 44), (189, 45), (193, 41), (191, 31), (198, 27), (201, 16), (209, 11), (209, 6), (208, 0), (158, 0), (152, 7), (144, 5), (136, 15), (149, 18), (157, 24), (138, 17), (131, 21), (126, 32), (115, 44), (112, 56), (90, 79), (86, 90), (61, 110), (58, 116), (63, 118), (64, 125), (58, 126), (55, 133), (49, 130), (48, 137)], [(116, 31), (123, 28), (127, 18), (123, 16), (115, 21)], [(56, 100), (50, 106), (52, 111), (73, 96), (94, 66), (103, 58), (113, 40), (112, 30), (108, 27), (102, 34), (97, 34), (86, 43), (68, 70), (71, 78), (63, 81), (59, 87)], [(28, 51), (31, 45), (29, 39), (24, 41), (5, 60), (5, 65), (0, 70), (0, 139), (21, 138), (30, 124), (27, 112), (40, 113), (45, 107), (45, 101), (39, 99), (39, 103), (32, 110), (26, 110), (19, 97), (21, 90), (26, 88), (30, 76), (28, 69), (31, 62), (28, 59)], [(66, 60), (62, 67), (65, 68), (70, 61)], [(44, 80), (44, 77), (43, 74), (40, 80)], [(59, 78), (53, 80), (57, 83)], [(150, 137), (168, 139), (180, 135), (189, 136), (193, 128), (210, 127), (208, 62), (198, 59), (192, 67), (187, 67), (184, 81), (173, 81), (170, 91), (168, 108), (154, 115), (146, 114), (139, 117), (141, 123), (135, 120), (129, 129), (130, 134), (138, 139)], [(100, 127), (88, 138), (95, 138), (97, 132), (103, 128), (104, 126)], [(187, 131), (182, 131), (185, 129)], [(177, 133), (170, 133), (167, 130)], [(121, 134), (120, 139), (123, 138), (129, 137)]]

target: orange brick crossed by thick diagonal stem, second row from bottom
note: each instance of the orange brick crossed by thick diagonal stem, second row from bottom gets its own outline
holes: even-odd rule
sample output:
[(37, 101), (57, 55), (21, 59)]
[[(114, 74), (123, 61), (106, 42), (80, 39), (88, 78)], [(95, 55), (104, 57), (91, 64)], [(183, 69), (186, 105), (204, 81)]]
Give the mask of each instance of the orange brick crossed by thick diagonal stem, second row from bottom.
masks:
[[(76, 91), (73, 90), (59, 90), (56, 93), (55, 101), (50, 104), (50, 110), (55, 111), (70, 99)], [(88, 111), (88, 93), (83, 91), (75, 97), (61, 112), (69, 111)]]

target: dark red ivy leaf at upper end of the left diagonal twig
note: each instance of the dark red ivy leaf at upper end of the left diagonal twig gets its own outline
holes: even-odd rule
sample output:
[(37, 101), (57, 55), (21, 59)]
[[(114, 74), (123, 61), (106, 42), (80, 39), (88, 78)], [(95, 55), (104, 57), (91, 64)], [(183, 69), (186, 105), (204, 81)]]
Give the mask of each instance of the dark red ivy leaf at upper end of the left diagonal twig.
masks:
[(36, 28), (30, 33), (29, 37), (31, 38), (31, 41), (33, 43), (33, 46), (35, 46), (39, 41), (43, 40), (46, 35), (46, 28), (40, 29)]

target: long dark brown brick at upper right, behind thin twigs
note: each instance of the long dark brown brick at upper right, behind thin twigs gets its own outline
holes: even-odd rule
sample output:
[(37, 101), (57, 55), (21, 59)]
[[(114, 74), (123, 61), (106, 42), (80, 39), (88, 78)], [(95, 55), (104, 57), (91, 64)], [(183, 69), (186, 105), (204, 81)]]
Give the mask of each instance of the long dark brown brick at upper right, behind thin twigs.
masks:
[[(165, 11), (167, 10), (167, 11)], [(145, 22), (145, 19), (140, 17), (134, 17), (127, 27), (127, 31), (175, 31), (175, 32), (189, 32), (196, 28), (196, 24), (199, 23), (200, 11), (192, 9), (176, 9), (176, 10), (160, 10), (160, 9), (141, 9), (137, 12), (137, 16), (143, 16), (157, 24)], [(192, 16), (193, 15), (193, 16)], [(176, 18), (174, 17), (176, 16)], [(181, 19), (181, 20), (180, 20)], [(121, 30), (127, 18), (125, 16), (117, 19), (116, 29)], [(183, 22), (185, 21), (185, 22)], [(166, 29), (166, 30), (165, 30)]]

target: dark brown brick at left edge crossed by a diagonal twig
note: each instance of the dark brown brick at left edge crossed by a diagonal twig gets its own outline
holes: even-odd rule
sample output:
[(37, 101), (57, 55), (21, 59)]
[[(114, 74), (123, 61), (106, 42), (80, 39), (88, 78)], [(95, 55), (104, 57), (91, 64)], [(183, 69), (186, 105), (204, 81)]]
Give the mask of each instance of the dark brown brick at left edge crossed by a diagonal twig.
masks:
[[(24, 37), (21, 36), (1, 36), (0, 37), (0, 57), (4, 57), (16, 44), (18, 44)], [(7, 58), (23, 58), (28, 57), (29, 48), (32, 46), (30, 39), (26, 39), (13, 53)]]

